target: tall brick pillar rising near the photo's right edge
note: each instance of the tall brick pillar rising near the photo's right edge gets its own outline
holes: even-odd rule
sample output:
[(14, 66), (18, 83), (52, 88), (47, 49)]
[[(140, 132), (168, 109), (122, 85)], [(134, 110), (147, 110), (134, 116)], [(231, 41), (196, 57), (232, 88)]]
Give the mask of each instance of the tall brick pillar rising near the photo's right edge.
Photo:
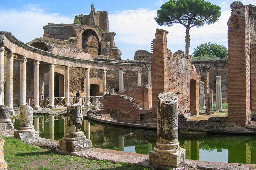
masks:
[(245, 126), (250, 114), (249, 6), (233, 2), (228, 21), (228, 122)]

